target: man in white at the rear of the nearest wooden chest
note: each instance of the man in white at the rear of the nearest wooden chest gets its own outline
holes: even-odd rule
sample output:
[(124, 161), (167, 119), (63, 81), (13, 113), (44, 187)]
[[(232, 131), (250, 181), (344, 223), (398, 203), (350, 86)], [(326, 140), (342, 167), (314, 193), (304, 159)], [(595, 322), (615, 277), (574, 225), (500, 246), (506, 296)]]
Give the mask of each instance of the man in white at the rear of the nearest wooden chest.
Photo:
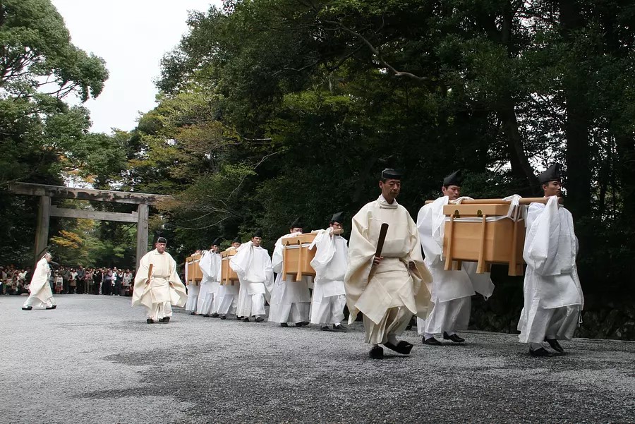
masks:
[(430, 291), (433, 309), (428, 318), (417, 319), (417, 329), (423, 335), (423, 344), (440, 346), (435, 334), (454, 343), (465, 339), (456, 330), (466, 329), (470, 320), (471, 296), (482, 294), (486, 299), (492, 296), (494, 284), (490, 273), (476, 274), (476, 263), (462, 262), (461, 269), (445, 270), (443, 253), (443, 233), (445, 215), (443, 207), (461, 195), (461, 171), (456, 171), (443, 179), (443, 196), (419, 210), (417, 228), (425, 255), (425, 265), (433, 276)]

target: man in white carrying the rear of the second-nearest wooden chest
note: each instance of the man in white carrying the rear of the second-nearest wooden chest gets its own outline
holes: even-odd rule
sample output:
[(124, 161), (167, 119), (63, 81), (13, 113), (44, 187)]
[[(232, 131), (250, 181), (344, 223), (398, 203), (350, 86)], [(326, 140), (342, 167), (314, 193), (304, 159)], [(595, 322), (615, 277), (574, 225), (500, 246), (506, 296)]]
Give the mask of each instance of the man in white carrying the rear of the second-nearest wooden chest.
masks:
[(274, 272), (277, 275), (271, 293), (269, 320), (279, 322), (280, 327), (289, 327), (289, 322), (294, 323), (296, 327), (309, 325), (311, 277), (303, 276), (300, 281), (294, 281), (294, 276), (287, 274), (286, 279), (282, 279), (282, 241), (284, 238), (302, 234), (302, 227), (300, 218), (296, 219), (289, 226), (289, 234), (276, 241), (272, 257)]

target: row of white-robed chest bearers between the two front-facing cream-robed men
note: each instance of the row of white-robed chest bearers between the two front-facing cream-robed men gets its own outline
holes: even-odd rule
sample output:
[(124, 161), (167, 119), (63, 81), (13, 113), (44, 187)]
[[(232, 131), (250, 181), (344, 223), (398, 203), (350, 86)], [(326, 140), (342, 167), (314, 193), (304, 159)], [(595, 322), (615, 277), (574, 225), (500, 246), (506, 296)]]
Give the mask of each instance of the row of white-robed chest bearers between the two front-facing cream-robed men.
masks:
[[(346, 291), (346, 239), (334, 234), (341, 229), (344, 214), (334, 214), (329, 227), (317, 232), (310, 248), (315, 247), (311, 265), (316, 271), (314, 279), (302, 277), (294, 281), (292, 275), (282, 278), (283, 239), (303, 232), (303, 224), (296, 219), (289, 227), (289, 234), (280, 237), (275, 244), (273, 257), (260, 246), (262, 232), (255, 231), (247, 243), (239, 238), (228, 250), (236, 253), (229, 258), (229, 267), (238, 275), (238, 284), (221, 284), (222, 259), (217, 238), (210, 250), (202, 252), (199, 267), (202, 272), (200, 286), (188, 284), (186, 310), (192, 315), (220, 317), (235, 315), (237, 320), (262, 322), (266, 315), (265, 298), (270, 304), (269, 321), (281, 327), (306, 327), (310, 323), (320, 325), (323, 331), (346, 332), (344, 320)], [(274, 279), (274, 272), (277, 274)], [(188, 277), (186, 279), (189, 281)], [(310, 293), (313, 287), (313, 296)]]

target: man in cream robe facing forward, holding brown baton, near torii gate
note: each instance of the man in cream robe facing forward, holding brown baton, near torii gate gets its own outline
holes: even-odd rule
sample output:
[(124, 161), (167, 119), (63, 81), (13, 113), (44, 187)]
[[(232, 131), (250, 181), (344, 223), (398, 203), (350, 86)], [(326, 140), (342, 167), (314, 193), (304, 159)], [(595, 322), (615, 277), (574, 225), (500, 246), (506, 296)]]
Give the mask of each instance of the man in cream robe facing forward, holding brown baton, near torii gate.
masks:
[(144, 305), (146, 322), (169, 322), (171, 305), (183, 306), (188, 300), (186, 288), (176, 272), (176, 262), (165, 251), (167, 240), (157, 238), (155, 250), (143, 255), (135, 275), (132, 305)]

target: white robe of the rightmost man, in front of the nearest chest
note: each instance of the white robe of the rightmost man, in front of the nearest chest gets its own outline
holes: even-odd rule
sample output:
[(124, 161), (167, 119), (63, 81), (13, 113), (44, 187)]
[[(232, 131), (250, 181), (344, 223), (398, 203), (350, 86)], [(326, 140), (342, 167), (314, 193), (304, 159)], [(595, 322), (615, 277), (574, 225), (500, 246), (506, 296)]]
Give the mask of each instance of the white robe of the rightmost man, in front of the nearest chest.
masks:
[(524, 307), (518, 322), (521, 343), (573, 337), (584, 296), (576, 268), (578, 239), (571, 212), (556, 196), (531, 203), (523, 258), (527, 262)]

